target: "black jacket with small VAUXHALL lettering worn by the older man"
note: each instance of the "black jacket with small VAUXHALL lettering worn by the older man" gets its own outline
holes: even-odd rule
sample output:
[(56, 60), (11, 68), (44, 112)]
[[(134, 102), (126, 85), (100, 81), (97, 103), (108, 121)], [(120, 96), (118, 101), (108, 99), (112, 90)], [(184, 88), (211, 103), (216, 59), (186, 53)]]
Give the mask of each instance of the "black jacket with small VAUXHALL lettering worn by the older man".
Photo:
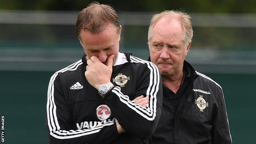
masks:
[[(153, 144), (231, 144), (222, 87), (184, 61), (185, 78), (178, 96), (163, 86), (162, 114)], [(170, 91), (173, 93), (171, 96)]]

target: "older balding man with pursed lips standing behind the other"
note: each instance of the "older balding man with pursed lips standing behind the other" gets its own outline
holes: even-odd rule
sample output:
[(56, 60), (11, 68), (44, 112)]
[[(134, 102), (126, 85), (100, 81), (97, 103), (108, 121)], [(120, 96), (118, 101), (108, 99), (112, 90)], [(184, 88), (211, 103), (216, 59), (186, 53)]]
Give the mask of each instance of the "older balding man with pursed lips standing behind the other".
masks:
[(230, 144), (222, 87), (185, 61), (193, 30), (190, 16), (163, 11), (149, 26), (149, 61), (163, 84), (162, 114), (153, 144)]

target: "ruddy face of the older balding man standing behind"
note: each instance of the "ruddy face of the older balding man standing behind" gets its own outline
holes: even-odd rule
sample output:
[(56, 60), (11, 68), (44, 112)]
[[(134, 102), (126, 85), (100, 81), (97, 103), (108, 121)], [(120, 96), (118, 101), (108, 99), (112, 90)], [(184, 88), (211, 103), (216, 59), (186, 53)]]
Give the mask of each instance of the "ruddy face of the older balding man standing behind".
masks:
[(177, 18), (163, 17), (153, 27), (149, 39), (151, 62), (164, 77), (181, 73), (190, 44), (185, 50), (181, 22)]

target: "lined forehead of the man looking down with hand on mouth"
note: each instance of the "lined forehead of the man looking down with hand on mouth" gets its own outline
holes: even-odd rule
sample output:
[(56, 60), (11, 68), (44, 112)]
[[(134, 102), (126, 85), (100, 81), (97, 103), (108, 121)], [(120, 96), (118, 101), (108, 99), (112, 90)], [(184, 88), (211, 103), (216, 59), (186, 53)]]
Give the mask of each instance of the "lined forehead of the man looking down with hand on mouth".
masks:
[(88, 48), (104, 48), (113, 45), (117, 39), (116, 29), (110, 25), (105, 26), (104, 30), (98, 34), (92, 34), (89, 30), (81, 30), (80, 38), (82, 43)]

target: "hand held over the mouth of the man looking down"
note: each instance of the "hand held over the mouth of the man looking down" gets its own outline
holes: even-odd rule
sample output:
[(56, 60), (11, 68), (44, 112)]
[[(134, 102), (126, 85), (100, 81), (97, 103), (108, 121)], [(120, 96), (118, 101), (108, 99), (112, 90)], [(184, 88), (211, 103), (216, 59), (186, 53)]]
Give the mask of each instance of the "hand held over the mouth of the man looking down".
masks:
[(107, 64), (103, 64), (98, 57), (92, 56), (87, 59), (88, 66), (85, 71), (85, 78), (91, 86), (98, 89), (100, 85), (110, 82), (112, 74), (114, 55), (107, 59)]

